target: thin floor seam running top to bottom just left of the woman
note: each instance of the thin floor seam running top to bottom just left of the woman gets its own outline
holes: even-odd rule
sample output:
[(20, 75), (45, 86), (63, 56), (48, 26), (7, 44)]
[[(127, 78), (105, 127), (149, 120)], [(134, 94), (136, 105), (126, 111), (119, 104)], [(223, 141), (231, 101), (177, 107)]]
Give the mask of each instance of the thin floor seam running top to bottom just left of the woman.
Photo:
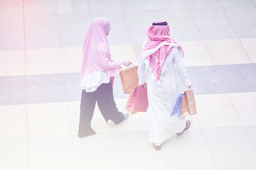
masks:
[[(55, 3), (55, 10), (56, 10), (56, 16), (57, 16), (57, 22), (58, 22), (58, 34), (59, 34), (59, 40), (60, 40), (60, 55), (61, 55), (61, 61), (63, 65), (63, 72), (65, 73), (65, 64), (64, 64), (64, 59), (63, 59), (63, 46), (62, 46), (62, 41), (61, 41), (61, 34), (60, 34), (60, 19), (59, 19), (59, 14), (58, 14), (58, 3), (57, 0), (54, 0)], [(70, 117), (70, 105), (68, 101), (68, 88), (67, 88), (67, 80), (65, 79), (65, 98), (66, 98), (66, 106), (68, 107), (68, 120), (69, 120), (69, 127), (70, 127), (70, 139), (72, 142), (72, 154), (73, 154), (73, 163), (74, 163), (74, 168), (77, 169), (76, 167), (76, 162), (75, 162), (75, 147), (74, 147), (74, 140), (73, 140), (73, 134), (72, 134), (72, 125), (71, 125), (71, 117)]]

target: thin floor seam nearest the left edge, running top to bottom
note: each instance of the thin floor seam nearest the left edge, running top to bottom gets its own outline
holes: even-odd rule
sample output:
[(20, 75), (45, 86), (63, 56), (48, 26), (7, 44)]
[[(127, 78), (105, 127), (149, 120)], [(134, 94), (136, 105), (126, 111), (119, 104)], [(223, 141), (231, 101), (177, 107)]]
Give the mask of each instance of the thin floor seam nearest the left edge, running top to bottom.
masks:
[(27, 165), (29, 170), (29, 145), (28, 145), (28, 89), (27, 89), (27, 72), (26, 72), (26, 30), (25, 30), (25, 0), (22, 1), (23, 11), (23, 51), (25, 60), (25, 91), (26, 91), (26, 132), (27, 132)]

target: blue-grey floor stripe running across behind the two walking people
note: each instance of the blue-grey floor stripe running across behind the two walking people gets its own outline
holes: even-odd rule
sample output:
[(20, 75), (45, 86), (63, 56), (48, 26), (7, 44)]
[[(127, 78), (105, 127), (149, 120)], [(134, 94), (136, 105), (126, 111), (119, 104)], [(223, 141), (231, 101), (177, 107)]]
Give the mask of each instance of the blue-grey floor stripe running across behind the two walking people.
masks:
[[(196, 95), (225, 94), (255, 92), (255, 65), (231, 64), (187, 69)], [(28, 75), (26, 79), (24, 76), (0, 78), (2, 91), (0, 105), (80, 101), (79, 73)], [(123, 93), (119, 76), (114, 79), (113, 92), (114, 98), (129, 96)], [(18, 96), (11, 97), (16, 93)]]

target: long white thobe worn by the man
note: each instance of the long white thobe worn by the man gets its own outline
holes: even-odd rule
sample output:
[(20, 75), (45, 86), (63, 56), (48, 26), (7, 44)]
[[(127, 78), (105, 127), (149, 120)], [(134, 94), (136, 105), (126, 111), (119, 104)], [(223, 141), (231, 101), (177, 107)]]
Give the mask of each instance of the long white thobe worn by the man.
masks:
[[(181, 132), (186, 127), (185, 119), (171, 117), (171, 112), (178, 95), (183, 93), (186, 87), (191, 86), (191, 81), (183, 63), (181, 52), (176, 45), (170, 44), (170, 47), (174, 48), (164, 61), (161, 81), (156, 83), (156, 77), (149, 66), (149, 60), (143, 55), (144, 44), (139, 59), (139, 84), (147, 83), (149, 108), (146, 112), (150, 114), (149, 142), (159, 143), (164, 142), (172, 135), (176, 135), (177, 132)], [(156, 51), (157, 48), (159, 47), (148, 50), (147, 56)], [(183, 85), (179, 83), (180, 80)]]

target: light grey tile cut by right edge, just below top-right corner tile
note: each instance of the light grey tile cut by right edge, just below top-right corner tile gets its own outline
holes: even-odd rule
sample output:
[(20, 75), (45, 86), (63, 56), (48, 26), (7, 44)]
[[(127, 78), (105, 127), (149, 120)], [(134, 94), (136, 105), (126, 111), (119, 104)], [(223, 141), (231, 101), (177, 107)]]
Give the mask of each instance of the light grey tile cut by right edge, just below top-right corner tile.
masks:
[(256, 16), (255, 6), (224, 6), (227, 16)]

